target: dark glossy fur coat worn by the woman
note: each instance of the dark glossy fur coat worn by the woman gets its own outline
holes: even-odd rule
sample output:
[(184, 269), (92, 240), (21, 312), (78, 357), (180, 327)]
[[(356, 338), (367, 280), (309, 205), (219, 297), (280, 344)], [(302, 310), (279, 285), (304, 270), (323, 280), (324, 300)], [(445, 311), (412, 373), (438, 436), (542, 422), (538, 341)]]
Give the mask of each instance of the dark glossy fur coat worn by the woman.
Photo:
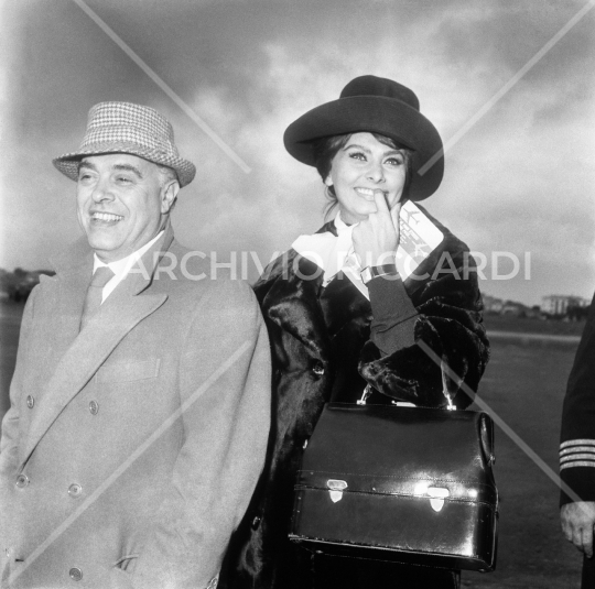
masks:
[[(424, 340), (476, 391), (488, 360), (488, 341), (475, 262), (461, 240), (433, 221), (444, 240), (404, 281), (419, 313), (414, 338)], [(333, 223), (322, 231), (334, 232)], [(433, 407), (446, 404), (440, 367), (414, 343), (383, 356), (370, 340), (368, 299), (347, 279), (323, 288), (317, 270), (290, 250), (269, 265), (255, 286), (272, 347), (273, 423), (268, 466), (230, 546), (228, 577), (219, 587), (311, 586), (310, 554), (290, 544), (288, 528), (304, 444), (325, 402), (355, 402), (369, 383), (386, 395), (376, 393), (372, 403), (394, 399)], [(328, 305), (324, 308), (329, 290), (334, 291), (331, 310)], [(450, 384), (458, 408), (472, 403), (459, 383)]]

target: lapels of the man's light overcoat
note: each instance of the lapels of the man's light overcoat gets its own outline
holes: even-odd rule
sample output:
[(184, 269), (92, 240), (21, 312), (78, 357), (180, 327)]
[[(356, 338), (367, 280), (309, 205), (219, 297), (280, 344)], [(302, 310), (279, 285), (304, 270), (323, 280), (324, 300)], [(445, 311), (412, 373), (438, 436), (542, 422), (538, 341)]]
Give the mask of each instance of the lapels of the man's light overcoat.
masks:
[[(164, 238), (142, 257), (142, 263), (137, 265), (140, 271), (131, 271), (128, 274), (80, 332), (78, 332), (80, 313), (78, 315), (73, 313), (66, 304), (72, 303), (79, 310), (83, 309), (90, 270), (85, 273), (80, 264), (71, 266), (73, 274), (67, 273), (61, 291), (65, 293), (65, 299), (58, 304), (64, 314), (56, 314), (56, 323), (60, 324), (56, 328), (62, 329), (64, 325), (65, 329), (62, 336), (63, 345), (69, 346), (57, 361), (56, 369), (41, 395), (40, 411), (31, 422), (26, 444), (23, 446), (21, 468), (64, 407), (90, 381), (122, 338), (167, 299), (165, 293), (151, 294), (144, 291), (151, 285), (154, 270), (172, 240), (173, 233), (171, 228), (167, 228)], [(155, 257), (154, 252), (160, 249), (161, 255)], [(74, 277), (76, 269), (80, 271), (84, 280)], [(68, 286), (76, 286), (71, 295), (66, 294)]]

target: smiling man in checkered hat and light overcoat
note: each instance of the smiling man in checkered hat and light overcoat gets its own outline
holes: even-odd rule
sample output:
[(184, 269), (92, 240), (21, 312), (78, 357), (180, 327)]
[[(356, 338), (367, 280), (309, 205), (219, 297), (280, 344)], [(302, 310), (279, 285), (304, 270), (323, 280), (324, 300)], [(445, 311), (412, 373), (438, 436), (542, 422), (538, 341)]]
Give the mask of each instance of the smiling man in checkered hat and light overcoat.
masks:
[(155, 110), (102, 102), (80, 149), (86, 236), (23, 315), (0, 446), (0, 586), (215, 587), (262, 468), (267, 331), (170, 211), (195, 167)]

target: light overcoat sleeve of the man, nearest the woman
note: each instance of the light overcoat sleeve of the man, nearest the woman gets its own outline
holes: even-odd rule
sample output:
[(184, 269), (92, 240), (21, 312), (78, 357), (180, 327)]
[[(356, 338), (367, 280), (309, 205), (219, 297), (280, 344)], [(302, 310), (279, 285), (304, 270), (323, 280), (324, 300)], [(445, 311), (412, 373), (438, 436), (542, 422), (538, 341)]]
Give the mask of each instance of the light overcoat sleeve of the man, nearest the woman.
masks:
[(137, 589), (215, 587), (264, 462), (270, 350), (251, 290), (217, 284), (188, 321), (178, 374), (185, 439), (132, 574)]

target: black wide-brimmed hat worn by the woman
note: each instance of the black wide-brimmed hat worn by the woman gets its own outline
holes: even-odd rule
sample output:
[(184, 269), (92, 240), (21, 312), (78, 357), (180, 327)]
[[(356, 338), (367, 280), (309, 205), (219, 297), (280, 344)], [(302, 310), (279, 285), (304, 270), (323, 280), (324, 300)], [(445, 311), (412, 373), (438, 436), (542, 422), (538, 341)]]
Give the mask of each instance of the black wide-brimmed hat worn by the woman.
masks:
[[(420, 112), (415, 94), (401, 84), (360, 76), (347, 84), (338, 100), (313, 108), (285, 130), (285, 149), (298, 161), (315, 165), (313, 142), (346, 133), (379, 133), (413, 150), (408, 197), (428, 198), (444, 175), (444, 153), (436, 128)], [(426, 165), (424, 165), (426, 164)]]

